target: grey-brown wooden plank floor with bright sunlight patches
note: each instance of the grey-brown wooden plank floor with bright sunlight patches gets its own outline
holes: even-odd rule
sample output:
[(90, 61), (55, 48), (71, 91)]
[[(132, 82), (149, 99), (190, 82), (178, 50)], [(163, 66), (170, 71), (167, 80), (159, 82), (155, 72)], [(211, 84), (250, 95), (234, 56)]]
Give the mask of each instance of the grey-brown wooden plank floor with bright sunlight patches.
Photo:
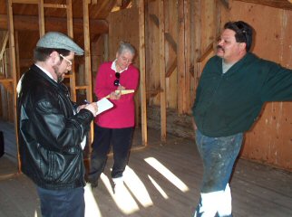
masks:
[[(13, 125), (0, 121), (0, 130), (5, 131), (5, 145), (14, 144)], [(109, 157), (99, 186), (92, 191), (85, 187), (86, 216), (192, 216), (202, 176), (196, 146), (171, 136), (161, 144), (159, 138), (160, 132), (149, 129), (149, 146), (142, 147), (139, 129), (135, 131), (125, 185), (116, 193)], [(13, 156), (0, 158), (0, 217), (41, 216), (34, 184), (16, 173)], [(239, 159), (230, 186), (235, 217), (292, 216), (292, 173)]]

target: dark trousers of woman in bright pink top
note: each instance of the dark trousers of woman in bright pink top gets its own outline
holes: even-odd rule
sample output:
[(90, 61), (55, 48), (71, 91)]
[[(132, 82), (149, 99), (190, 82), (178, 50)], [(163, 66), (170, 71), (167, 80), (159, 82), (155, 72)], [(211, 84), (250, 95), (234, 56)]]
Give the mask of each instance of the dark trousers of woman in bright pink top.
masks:
[(107, 155), (113, 152), (112, 178), (122, 177), (128, 163), (133, 127), (104, 128), (94, 124), (91, 168), (88, 179), (97, 181), (106, 165)]

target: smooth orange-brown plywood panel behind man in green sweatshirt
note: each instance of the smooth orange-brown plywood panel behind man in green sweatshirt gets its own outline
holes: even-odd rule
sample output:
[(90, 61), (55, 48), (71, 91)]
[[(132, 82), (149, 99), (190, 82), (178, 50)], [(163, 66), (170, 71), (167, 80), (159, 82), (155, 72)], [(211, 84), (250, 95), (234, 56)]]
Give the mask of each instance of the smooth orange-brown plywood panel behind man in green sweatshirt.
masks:
[[(258, 56), (292, 68), (291, 10), (233, 1), (230, 20), (244, 20), (255, 28), (253, 52)], [(268, 103), (246, 136), (242, 156), (292, 170), (291, 110), (292, 102)]]

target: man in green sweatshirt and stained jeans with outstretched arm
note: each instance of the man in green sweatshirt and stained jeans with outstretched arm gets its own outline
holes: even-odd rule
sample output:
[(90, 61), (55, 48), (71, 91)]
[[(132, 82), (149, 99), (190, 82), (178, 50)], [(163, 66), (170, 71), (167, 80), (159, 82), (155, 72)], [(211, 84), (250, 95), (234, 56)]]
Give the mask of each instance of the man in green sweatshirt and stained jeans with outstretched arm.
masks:
[(292, 100), (292, 70), (249, 52), (252, 35), (245, 22), (225, 24), (200, 77), (192, 111), (204, 174), (194, 217), (232, 216), (229, 178), (243, 133), (265, 102)]

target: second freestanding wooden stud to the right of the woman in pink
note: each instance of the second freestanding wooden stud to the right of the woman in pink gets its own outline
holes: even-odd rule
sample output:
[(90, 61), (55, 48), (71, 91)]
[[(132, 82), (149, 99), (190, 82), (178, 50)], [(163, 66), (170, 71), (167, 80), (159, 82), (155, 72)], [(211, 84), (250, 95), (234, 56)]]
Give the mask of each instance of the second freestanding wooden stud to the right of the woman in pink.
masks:
[(161, 140), (166, 140), (166, 80), (165, 80), (165, 38), (164, 0), (159, 1), (160, 21), (160, 73), (161, 73)]

